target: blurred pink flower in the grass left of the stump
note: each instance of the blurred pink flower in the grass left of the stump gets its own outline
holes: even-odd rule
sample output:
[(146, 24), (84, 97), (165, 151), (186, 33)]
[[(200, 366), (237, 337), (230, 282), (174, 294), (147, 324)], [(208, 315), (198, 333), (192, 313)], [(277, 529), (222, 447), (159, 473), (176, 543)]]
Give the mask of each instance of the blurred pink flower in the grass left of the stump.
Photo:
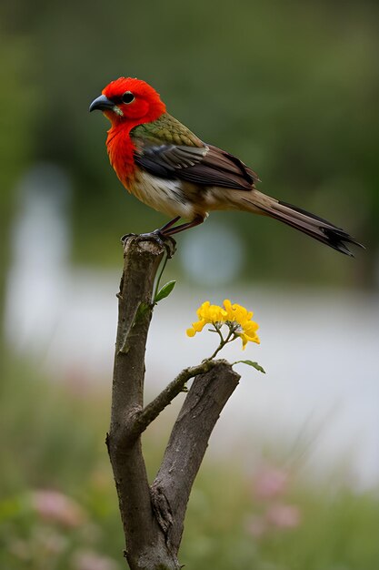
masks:
[(31, 494), (31, 501), (35, 512), (45, 520), (73, 527), (85, 521), (82, 507), (58, 491), (35, 491)]

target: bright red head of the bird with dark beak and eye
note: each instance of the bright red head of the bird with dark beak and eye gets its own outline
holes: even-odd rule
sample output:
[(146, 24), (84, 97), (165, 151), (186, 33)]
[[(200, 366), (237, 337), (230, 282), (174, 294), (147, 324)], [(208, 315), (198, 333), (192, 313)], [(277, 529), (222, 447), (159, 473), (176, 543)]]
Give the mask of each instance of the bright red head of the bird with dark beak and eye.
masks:
[(165, 113), (163, 103), (153, 87), (133, 77), (119, 77), (107, 85), (91, 103), (90, 111), (103, 111), (112, 126), (125, 123), (135, 127), (155, 121)]

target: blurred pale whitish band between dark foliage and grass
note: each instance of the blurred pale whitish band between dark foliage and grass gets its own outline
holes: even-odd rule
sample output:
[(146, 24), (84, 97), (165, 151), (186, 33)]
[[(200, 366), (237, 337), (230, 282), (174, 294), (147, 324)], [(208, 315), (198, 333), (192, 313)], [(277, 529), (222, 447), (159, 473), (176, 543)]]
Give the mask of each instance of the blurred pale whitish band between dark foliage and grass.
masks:
[[(73, 382), (78, 390), (110, 385), (120, 273), (70, 266), (67, 180), (54, 168), (43, 169), (46, 188), (57, 188), (45, 192), (41, 172), (35, 172), (25, 182), (15, 222), (7, 337), (15, 351), (56, 380)], [(356, 487), (378, 484), (379, 296), (254, 284), (236, 288), (233, 273), (243, 246), (227, 229), (202, 231), (200, 238), (199, 232), (188, 232), (178, 254), (193, 269), (190, 278), (197, 281), (203, 271), (208, 282), (179, 283), (155, 309), (146, 351), (148, 394), (214, 351), (213, 334), (189, 339), (185, 329), (196, 320), (201, 302), (221, 303), (227, 291), (231, 300), (254, 310), (262, 344), (242, 352), (235, 342), (224, 357), (259, 361), (267, 373), (238, 365), (243, 378), (216, 426), (210, 453), (232, 457), (242, 450), (239, 457), (248, 469), (272, 448), (287, 466), (302, 462), (316, 476), (338, 466), (341, 477)], [(226, 248), (232, 248), (227, 255)], [(229, 266), (227, 259), (233, 260)]]

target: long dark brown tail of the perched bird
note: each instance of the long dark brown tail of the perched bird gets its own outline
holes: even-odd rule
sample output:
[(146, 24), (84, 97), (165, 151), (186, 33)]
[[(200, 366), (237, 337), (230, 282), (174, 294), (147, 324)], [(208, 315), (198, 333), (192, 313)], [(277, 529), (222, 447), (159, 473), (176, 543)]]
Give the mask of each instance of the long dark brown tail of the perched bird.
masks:
[(330, 248), (341, 251), (345, 255), (354, 257), (353, 253), (346, 246), (348, 243), (364, 248), (361, 243), (356, 241), (344, 229), (337, 228), (327, 219), (319, 218), (311, 212), (297, 208), (292, 204), (286, 204), (257, 191), (254, 192), (254, 198), (244, 197), (243, 200), (246, 204), (246, 209), (249, 209), (247, 205), (250, 204), (252, 211), (261, 210), (263, 214), (270, 216), (270, 218), (279, 219), (287, 226), (299, 229), (308, 236), (318, 239)]

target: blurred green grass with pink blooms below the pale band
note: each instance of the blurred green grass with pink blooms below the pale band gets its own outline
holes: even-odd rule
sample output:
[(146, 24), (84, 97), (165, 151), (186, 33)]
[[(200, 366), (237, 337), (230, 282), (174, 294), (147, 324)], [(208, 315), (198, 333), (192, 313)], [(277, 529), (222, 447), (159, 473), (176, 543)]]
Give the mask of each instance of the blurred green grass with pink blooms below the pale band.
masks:
[[(0, 567), (121, 570), (122, 524), (105, 449), (108, 397), (79, 378), (47, 382), (25, 362), (3, 360)], [(169, 429), (160, 421), (145, 433), (151, 478)], [(340, 483), (309, 481), (291, 457), (291, 470), (271, 457), (274, 468), (246, 473), (244, 453), (205, 460), (186, 517), (185, 567), (376, 570), (377, 492), (349, 489), (339, 473)]]

